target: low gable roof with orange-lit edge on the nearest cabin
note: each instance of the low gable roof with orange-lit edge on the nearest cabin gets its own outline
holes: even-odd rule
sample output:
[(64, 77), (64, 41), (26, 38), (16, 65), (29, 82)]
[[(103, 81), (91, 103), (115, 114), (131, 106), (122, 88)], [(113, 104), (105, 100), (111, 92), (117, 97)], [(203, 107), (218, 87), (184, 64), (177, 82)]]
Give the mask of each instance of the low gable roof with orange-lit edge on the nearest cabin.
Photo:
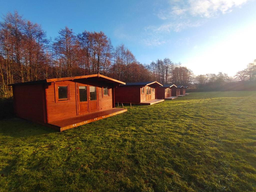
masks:
[(65, 80), (74, 80), (74, 79), (87, 79), (87, 78), (100, 78), (100, 80), (106, 80), (111, 83), (118, 83), (118, 84), (125, 84), (122, 81), (118, 81), (116, 79), (112, 79), (110, 77), (106, 77), (101, 74), (92, 74), (92, 75), (83, 75), (83, 76), (76, 76), (76, 77), (62, 77), (62, 78), (54, 78), (54, 79), (44, 79), (44, 80), (38, 80), (38, 81), (28, 81), (23, 83), (13, 83), (9, 84), (8, 86), (13, 85), (28, 85), (28, 84), (39, 84), (39, 83), (50, 83), (50, 82), (56, 82), (56, 81), (65, 81)]

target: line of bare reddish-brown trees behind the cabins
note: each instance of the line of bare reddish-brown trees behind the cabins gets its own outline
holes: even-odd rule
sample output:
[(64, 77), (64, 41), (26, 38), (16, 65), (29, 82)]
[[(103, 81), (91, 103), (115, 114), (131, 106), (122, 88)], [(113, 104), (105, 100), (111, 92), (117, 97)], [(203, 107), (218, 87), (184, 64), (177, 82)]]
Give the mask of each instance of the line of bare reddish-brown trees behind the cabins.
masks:
[(123, 82), (158, 81), (187, 85), (194, 90), (218, 90), (227, 83), (255, 82), (255, 63), (235, 77), (226, 73), (195, 76), (169, 58), (150, 64), (136, 60), (124, 45), (114, 47), (102, 31), (75, 34), (65, 27), (54, 39), (37, 23), (18, 12), (8, 13), (0, 22), (0, 96), (12, 96), (8, 84), (100, 73)]

